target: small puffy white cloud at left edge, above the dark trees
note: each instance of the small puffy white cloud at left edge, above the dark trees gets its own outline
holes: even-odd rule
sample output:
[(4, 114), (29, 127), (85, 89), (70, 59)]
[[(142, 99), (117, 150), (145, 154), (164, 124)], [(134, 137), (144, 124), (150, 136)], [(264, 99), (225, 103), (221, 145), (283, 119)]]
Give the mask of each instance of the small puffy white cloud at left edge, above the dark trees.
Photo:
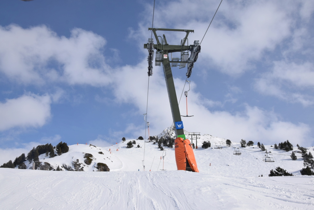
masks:
[(0, 131), (14, 127), (41, 127), (51, 117), (51, 98), (25, 94), (0, 103)]

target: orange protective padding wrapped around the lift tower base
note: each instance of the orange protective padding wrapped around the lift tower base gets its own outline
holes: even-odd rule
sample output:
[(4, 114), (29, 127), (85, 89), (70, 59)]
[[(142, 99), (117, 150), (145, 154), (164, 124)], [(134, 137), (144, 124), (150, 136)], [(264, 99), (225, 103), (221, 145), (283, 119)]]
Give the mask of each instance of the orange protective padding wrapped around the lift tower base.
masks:
[(178, 170), (199, 172), (190, 140), (176, 138), (175, 155)]

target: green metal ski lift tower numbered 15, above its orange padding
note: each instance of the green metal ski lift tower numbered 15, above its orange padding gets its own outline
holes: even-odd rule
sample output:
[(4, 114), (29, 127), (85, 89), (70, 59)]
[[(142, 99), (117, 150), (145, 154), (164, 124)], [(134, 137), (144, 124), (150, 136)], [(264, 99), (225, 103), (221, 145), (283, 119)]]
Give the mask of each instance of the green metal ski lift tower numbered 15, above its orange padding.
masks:
[[(159, 28), (149, 28), (148, 30), (152, 30), (154, 33), (155, 39), (157, 40), (157, 44), (154, 45), (154, 40), (149, 39), (147, 44), (144, 44), (144, 48), (148, 49), (148, 76), (153, 75), (153, 59), (154, 59), (154, 50), (156, 50), (156, 59), (155, 66), (160, 66), (162, 64), (165, 74), (165, 80), (168, 90), (168, 96), (171, 106), (173, 123), (176, 126), (176, 136), (186, 139), (183, 132), (183, 122), (181, 121), (181, 115), (178, 105), (178, 100), (176, 96), (176, 89), (173, 82), (171, 67), (180, 67), (184, 68), (187, 66), (187, 78), (191, 76), (192, 68), (194, 62), (196, 62), (198, 58), (198, 53), (201, 51), (201, 46), (197, 40), (194, 41), (193, 45), (186, 45), (188, 43), (187, 36), (190, 32), (194, 32), (194, 30), (182, 30), (182, 29), (159, 29)], [(163, 37), (157, 36), (156, 31), (178, 31), (178, 32), (186, 32), (186, 36), (181, 40), (180, 45), (169, 45), (165, 35)], [(173, 52), (181, 52), (180, 58), (172, 58), (169, 59), (169, 53)], [(190, 52), (190, 53), (189, 53)]]

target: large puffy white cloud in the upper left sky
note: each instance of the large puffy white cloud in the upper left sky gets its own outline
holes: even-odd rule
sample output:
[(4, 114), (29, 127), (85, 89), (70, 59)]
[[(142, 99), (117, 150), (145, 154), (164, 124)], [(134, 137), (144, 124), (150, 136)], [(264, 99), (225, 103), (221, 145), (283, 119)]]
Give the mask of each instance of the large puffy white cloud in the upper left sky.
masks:
[[(106, 40), (82, 29), (59, 37), (46, 26), (23, 29), (17, 25), (0, 27), (0, 72), (24, 84), (50, 82), (108, 84), (102, 48)], [(58, 69), (50, 66), (56, 62)]]

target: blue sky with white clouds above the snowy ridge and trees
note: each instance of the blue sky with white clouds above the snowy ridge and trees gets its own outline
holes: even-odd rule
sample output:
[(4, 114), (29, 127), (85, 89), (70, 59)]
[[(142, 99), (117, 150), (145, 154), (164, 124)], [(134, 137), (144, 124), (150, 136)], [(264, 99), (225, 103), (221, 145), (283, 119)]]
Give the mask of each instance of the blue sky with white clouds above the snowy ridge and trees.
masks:
[[(201, 40), (220, 1), (156, 0), (154, 27)], [(2, 0), (0, 153), (145, 136), (154, 1)], [(305, 1), (224, 0), (191, 75), (185, 130), (234, 142), (314, 144), (313, 11)], [(162, 35), (162, 32), (159, 32)], [(185, 34), (165, 32), (179, 45)], [(175, 54), (173, 55), (175, 57)], [(172, 124), (162, 67), (149, 79), (150, 135)], [(180, 99), (186, 69), (172, 68)], [(185, 87), (187, 90), (187, 87)], [(180, 103), (185, 114), (185, 98)], [(146, 131), (146, 137), (148, 133)]]

